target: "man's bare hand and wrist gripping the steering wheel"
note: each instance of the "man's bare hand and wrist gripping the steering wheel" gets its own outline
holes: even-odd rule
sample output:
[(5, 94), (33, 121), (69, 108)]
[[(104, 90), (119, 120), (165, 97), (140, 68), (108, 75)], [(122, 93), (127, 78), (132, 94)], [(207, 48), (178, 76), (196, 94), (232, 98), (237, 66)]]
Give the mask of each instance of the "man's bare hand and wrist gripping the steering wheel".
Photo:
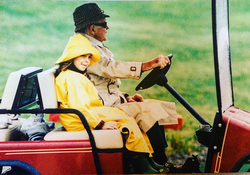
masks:
[(142, 63), (142, 71), (148, 71), (156, 67), (163, 69), (166, 65), (170, 64), (168, 56), (159, 55), (151, 61)]

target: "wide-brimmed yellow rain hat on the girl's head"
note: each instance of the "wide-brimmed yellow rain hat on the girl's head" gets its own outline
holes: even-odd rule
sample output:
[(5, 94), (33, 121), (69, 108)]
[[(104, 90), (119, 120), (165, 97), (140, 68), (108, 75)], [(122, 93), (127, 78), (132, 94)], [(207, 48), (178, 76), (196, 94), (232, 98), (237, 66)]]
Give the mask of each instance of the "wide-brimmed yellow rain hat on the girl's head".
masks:
[(81, 34), (77, 34), (70, 38), (64, 53), (55, 62), (55, 64), (69, 61), (73, 58), (86, 54), (92, 54), (89, 66), (98, 62), (101, 57), (100, 52), (91, 45), (87, 38)]

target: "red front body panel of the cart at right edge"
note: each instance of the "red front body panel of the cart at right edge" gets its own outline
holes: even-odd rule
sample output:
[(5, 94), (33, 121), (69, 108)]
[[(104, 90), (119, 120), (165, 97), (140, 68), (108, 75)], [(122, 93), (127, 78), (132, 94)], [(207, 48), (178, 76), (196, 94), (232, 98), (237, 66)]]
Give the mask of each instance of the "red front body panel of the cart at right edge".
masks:
[(249, 160), (249, 118), (249, 112), (234, 106), (223, 113), (223, 122), (226, 125), (225, 134), (221, 151), (213, 156), (213, 173), (239, 171), (243, 162)]

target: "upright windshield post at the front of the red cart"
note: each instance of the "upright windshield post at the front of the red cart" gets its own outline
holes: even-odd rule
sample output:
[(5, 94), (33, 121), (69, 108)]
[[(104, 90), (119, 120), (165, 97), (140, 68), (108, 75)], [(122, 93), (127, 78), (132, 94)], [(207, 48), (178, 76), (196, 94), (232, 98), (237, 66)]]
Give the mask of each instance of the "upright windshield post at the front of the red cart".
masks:
[(218, 112), (216, 113), (209, 144), (205, 172), (210, 173), (213, 154), (220, 151), (225, 123), (223, 112), (233, 105), (233, 85), (229, 40), (228, 0), (212, 0), (212, 29), (214, 69)]

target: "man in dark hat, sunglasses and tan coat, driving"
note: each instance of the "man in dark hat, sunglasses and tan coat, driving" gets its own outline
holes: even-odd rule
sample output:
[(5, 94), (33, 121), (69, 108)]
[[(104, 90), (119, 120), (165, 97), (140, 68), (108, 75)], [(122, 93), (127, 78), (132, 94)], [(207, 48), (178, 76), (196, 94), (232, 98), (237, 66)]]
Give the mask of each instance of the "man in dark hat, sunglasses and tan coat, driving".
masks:
[[(147, 62), (115, 61), (112, 52), (103, 45), (107, 40), (109, 29), (105, 14), (95, 3), (83, 4), (75, 9), (73, 18), (75, 33), (81, 33), (96, 47), (101, 59), (88, 68), (91, 82), (98, 90), (104, 105), (123, 109), (127, 115), (134, 117), (140, 128), (148, 135), (154, 149), (154, 160), (164, 165), (167, 162), (165, 155), (164, 124), (177, 123), (175, 104), (157, 100), (144, 100), (140, 94), (129, 96), (119, 90), (122, 79), (139, 79), (144, 71), (155, 67), (164, 68), (170, 64), (167, 56), (159, 55)], [(134, 103), (131, 103), (134, 102)], [(140, 102), (140, 103), (137, 103)]]

